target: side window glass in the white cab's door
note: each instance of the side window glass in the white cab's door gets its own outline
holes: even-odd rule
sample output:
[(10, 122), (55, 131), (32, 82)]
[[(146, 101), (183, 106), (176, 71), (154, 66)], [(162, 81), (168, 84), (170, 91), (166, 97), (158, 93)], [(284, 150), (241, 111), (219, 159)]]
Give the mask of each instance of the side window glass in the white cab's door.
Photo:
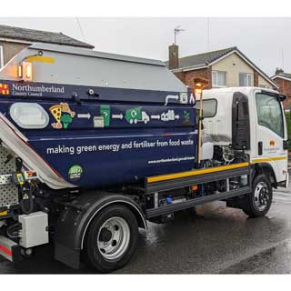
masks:
[(257, 93), (256, 113), (259, 125), (265, 126), (282, 138), (284, 137), (283, 114), (276, 95)]

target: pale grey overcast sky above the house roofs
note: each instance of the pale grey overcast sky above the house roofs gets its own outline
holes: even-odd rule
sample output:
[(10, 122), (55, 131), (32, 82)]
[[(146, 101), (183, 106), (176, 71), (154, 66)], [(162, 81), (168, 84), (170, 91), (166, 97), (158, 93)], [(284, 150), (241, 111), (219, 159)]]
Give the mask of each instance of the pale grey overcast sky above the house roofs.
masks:
[[(207, 22), (209, 21), (209, 38)], [(0, 18), (1, 25), (63, 32), (95, 45), (95, 50), (167, 59), (174, 42), (174, 28), (185, 29), (177, 36), (180, 56), (237, 46), (268, 75), (276, 66), (291, 73), (291, 18)], [(209, 41), (208, 41), (209, 39)], [(282, 54), (283, 52), (283, 54)]]

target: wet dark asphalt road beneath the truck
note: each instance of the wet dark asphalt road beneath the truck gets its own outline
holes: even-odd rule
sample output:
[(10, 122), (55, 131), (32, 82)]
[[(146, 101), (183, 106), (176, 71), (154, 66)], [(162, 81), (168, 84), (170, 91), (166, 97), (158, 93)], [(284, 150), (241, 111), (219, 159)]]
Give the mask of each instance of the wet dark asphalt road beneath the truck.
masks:
[[(140, 232), (135, 256), (122, 274), (290, 274), (291, 189), (274, 194), (265, 217), (247, 218), (216, 202), (181, 212), (166, 225), (149, 224)], [(0, 274), (92, 273), (73, 270), (53, 259), (49, 246), (18, 265), (0, 258)]]

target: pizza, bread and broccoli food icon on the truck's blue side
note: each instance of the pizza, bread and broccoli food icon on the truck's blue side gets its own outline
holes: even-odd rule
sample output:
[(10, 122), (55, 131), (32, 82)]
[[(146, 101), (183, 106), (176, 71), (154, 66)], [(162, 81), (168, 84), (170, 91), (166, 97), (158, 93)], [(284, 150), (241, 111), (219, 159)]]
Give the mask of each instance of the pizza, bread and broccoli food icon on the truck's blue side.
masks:
[(75, 116), (75, 111), (72, 111), (70, 106), (63, 102), (51, 106), (49, 111), (55, 118), (55, 123), (51, 124), (55, 129), (67, 129)]

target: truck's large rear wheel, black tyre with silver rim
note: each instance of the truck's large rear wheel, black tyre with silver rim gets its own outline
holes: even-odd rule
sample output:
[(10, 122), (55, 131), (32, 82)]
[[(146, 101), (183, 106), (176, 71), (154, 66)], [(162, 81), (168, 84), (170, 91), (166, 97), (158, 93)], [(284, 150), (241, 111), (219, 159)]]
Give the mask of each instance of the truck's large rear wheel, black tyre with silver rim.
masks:
[(85, 262), (99, 272), (112, 272), (129, 261), (137, 240), (135, 215), (125, 206), (109, 206), (89, 226), (85, 236)]

